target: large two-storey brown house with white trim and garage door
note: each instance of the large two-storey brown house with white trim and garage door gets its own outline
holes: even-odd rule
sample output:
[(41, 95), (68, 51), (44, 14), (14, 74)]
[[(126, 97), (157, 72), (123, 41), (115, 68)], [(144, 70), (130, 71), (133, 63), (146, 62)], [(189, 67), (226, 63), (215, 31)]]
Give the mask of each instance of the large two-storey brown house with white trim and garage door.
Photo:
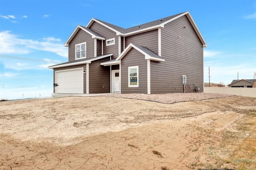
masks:
[(92, 18), (64, 46), (68, 62), (48, 67), (54, 93), (183, 93), (183, 75), (187, 92), (203, 89), (207, 45), (189, 12), (128, 29)]

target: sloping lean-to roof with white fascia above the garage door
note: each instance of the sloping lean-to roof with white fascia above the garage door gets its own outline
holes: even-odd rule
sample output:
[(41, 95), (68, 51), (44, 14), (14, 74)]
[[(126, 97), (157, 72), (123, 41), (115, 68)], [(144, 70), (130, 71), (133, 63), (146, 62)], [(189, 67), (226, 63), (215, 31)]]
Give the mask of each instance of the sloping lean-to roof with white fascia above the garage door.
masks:
[(67, 66), (71, 66), (71, 65), (79, 65), (79, 64), (86, 64), (86, 63), (91, 63), (92, 61), (95, 61), (97, 59), (102, 59), (105, 57), (110, 57), (112, 56), (113, 53), (111, 54), (106, 54), (106, 55), (100, 55), (98, 57), (91, 57), (91, 58), (84, 58), (84, 59), (77, 59), (74, 61), (68, 61), (65, 63), (60, 63), (60, 64), (56, 64), (56, 65), (51, 65), (48, 67), (48, 69), (55, 69), (55, 68), (60, 68), (60, 67), (67, 67)]

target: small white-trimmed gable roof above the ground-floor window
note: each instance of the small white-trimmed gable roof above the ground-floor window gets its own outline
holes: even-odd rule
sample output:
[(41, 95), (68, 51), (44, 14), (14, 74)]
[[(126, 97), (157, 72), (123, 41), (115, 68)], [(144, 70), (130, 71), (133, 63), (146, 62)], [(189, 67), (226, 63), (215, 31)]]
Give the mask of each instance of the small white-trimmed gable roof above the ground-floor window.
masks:
[(132, 47), (135, 48), (136, 50), (138, 50), (139, 52), (141, 52), (142, 54), (144, 54), (145, 59), (150, 59), (150, 60), (154, 60), (154, 61), (165, 61), (165, 59), (163, 57), (160, 57), (159, 55), (157, 55), (156, 53), (154, 53), (147, 47), (140, 46), (140, 45), (137, 45), (134, 43), (130, 43), (126, 47), (126, 49), (124, 49), (124, 51), (116, 58), (116, 61), (122, 59), (126, 55), (126, 53), (128, 53), (128, 51), (130, 51), (130, 49), (132, 49)]

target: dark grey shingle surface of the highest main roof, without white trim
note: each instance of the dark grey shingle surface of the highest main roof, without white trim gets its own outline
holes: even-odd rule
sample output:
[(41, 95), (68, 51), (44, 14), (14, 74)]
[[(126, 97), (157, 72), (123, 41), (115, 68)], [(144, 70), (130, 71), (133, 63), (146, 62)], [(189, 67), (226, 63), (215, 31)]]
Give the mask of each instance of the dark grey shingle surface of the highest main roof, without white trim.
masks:
[[(180, 13), (180, 14), (183, 14), (183, 13), (185, 13), (185, 12), (182, 12), (182, 13)], [(142, 30), (142, 29), (144, 29), (144, 28), (148, 28), (148, 27), (152, 27), (152, 26), (157, 26), (157, 25), (159, 25), (159, 24), (162, 24), (163, 22), (166, 22), (166, 21), (168, 21), (168, 20), (170, 20), (170, 19), (172, 19), (172, 18), (175, 18), (176, 16), (179, 16), (180, 14), (176, 14), (176, 15), (173, 15), (173, 16), (168, 16), (168, 17), (166, 17), (166, 18), (162, 18), (162, 19), (159, 19), (159, 20), (155, 20), (155, 21), (152, 21), (152, 22), (148, 22), (148, 23), (141, 24), (141, 25), (138, 25), (138, 26), (134, 26), (134, 27), (131, 27), (131, 28), (127, 28), (127, 29), (122, 28), (122, 27), (115, 26), (115, 25), (113, 25), (113, 24), (109, 24), (109, 23), (107, 23), (107, 22), (98, 20), (98, 19), (96, 19), (96, 18), (95, 18), (95, 19), (98, 20), (98, 21), (100, 21), (100, 22), (102, 22), (103, 24), (106, 24), (107, 26), (113, 28), (113, 29), (116, 30), (116, 31), (119, 31), (119, 32), (125, 34), (125, 33), (129, 33), (129, 32), (134, 32), (134, 31), (137, 31), (137, 30)]]

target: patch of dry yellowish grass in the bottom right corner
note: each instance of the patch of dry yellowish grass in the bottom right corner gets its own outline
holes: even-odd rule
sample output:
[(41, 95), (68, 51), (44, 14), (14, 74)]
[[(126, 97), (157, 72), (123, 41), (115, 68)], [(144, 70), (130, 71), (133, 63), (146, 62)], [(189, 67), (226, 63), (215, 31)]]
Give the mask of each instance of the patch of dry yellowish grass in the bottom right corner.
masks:
[(225, 130), (219, 145), (205, 148), (206, 162), (197, 160), (191, 169), (256, 169), (256, 111), (250, 110), (236, 122), (237, 131)]

